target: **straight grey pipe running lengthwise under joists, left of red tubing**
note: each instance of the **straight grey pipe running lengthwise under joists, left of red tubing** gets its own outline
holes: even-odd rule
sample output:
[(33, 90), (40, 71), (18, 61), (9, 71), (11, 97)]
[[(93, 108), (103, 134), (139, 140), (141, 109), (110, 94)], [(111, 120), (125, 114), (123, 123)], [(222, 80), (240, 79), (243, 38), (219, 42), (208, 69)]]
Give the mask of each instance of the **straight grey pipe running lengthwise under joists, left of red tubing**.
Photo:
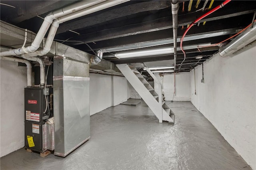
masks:
[(177, 28), (178, 28), (178, 0), (172, 0), (172, 30), (173, 30), (173, 46), (174, 46), (174, 70), (176, 69), (177, 58)]

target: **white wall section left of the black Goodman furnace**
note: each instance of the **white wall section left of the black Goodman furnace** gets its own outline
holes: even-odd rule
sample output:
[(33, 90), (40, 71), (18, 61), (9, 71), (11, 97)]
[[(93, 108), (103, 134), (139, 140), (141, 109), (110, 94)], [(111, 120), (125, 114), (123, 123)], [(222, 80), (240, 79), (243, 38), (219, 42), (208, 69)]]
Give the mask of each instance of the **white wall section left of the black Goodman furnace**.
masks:
[(24, 147), (24, 87), (26, 67), (0, 60), (1, 157)]

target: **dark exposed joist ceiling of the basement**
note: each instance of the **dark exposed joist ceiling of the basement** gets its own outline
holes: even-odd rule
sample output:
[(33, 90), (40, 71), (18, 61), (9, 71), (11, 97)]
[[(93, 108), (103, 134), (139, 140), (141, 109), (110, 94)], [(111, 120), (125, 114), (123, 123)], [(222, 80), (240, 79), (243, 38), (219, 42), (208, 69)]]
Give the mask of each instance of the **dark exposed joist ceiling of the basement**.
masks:
[[(55, 1), (9, 1), (1, 0), (1, 20), (14, 24), (21, 28), (27, 28), (33, 32), (38, 32), (42, 19), (48, 12), (75, 3), (76, 1), (55, 0)], [(206, 10), (196, 11), (202, 8), (204, 1), (201, 1), (196, 8), (197, 0), (192, 1), (191, 10), (188, 11), (189, 2), (180, 1), (178, 12), (178, 47), (180, 38), (188, 24), (191, 24), (196, 18), (209, 11), (211, 0), (206, 4)], [(223, 1), (213, 1), (214, 8)], [(184, 10), (183, 10), (184, 7)], [(184, 61), (180, 72), (190, 71), (196, 65), (204, 62), (218, 52), (219, 47), (201, 47), (197, 45), (212, 44), (221, 42), (234, 35), (239, 30), (245, 28), (252, 22), (254, 12), (256, 11), (255, 1), (233, 0), (220, 10), (207, 16), (199, 25), (194, 25), (186, 35), (184, 46), (193, 46), (186, 50), (186, 60)], [(71, 32), (71, 31), (74, 32)], [(76, 33), (75, 33), (76, 32)], [(214, 34), (212, 34), (214, 33)], [(104, 53), (104, 59), (113, 63), (142, 63), (148, 62), (151, 66), (173, 64), (173, 54), (154, 55), (144, 57), (134, 57), (126, 59), (117, 59), (115, 53), (123, 52), (127, 45), (146, 45), (152, 42), (167, 41), (169, 43), (154, 47), (145, 47), (143, 49), (155, 49), (162, 47), (172, 47), (172, 13), (170, 1), (129, 1), (117, 6), (89, 14), (65, 22), (60, 25), (55, 39), (66, 45), (70, 45), (82, 51), (93, 53), (85, 44), (87, 43), (94, 51), (99, 49), (109, 49), (110, 52)], [(121, 51), (115, 51), (119, 48)], [(114, 50), (111, 50), (114, 48)], [(141, 49), (130, 49), (125, 51), (134, 51)], [(200, 50), (200, 51), (199, 51)], [(196, 59), (197, 55), (203, 55), (203, 58)], [(184, 55), (178, 50), (177, 65), (179, 66)], [(153, 62), (158, 61), (158, 62)], [(159, 62), (163, 61), (163, 62)]]

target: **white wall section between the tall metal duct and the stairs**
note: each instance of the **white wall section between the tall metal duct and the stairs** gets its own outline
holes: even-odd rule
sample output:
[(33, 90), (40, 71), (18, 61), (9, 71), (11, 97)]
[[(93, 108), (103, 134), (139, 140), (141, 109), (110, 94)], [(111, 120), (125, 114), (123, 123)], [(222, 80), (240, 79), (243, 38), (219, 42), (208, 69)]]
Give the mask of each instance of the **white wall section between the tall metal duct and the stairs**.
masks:
[(125, 77), (90, 73), (90, 115), (127, 101)]

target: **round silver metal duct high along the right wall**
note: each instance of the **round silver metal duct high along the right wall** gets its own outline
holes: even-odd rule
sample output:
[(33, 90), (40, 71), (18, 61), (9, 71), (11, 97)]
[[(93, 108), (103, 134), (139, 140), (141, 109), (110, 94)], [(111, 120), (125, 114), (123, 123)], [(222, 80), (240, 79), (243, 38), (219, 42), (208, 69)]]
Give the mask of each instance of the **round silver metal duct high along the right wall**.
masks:
[(238, 51), (245, 45), (256, 40), (256, 22), (253, 24), (253, 28), (247, 28), (242, 34), (238, 35), (228, 45), (220, 49), (221, 57), (228, 57), (232, 53)]

